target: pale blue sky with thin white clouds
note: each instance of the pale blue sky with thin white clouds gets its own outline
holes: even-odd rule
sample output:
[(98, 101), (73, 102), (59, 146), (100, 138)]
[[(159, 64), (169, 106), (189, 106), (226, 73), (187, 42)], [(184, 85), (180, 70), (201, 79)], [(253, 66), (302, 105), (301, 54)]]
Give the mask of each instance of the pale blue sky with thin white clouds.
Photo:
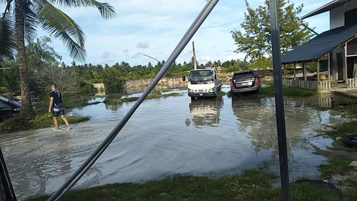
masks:
[[(206, 0), (98, 0), (115, 7), (118, 16), (106, 20), (95, 8), (61, 8), (86, 34), (86, 63), (109, 64), (125, 61), (131, 65), (145, 65), (155, 60), (167, 60)], [(264, 0), (248, 0), (255, 8)], [(330, 0), (291, 0), (303, 3), (301, 16), (324, 5)], [(2, 7), (2, 6), (1, 6)], [(2, 10), (2, 9), (1, 9)], [(193, 37), (199, 63), (215, 60), (244, 59), (244, 54), (234, 53), (235, 42), (231, 31), (240, 29), (246, 11), (244, 0), (220, 0), (210, 16)], [(306, 20), (310, 27), (321, 33), (329, 29), (329, 14), (323, 13)], [(39, 30), (39, 36), (49, 36)], [(69, 65), (65, 46), (53, 38), (52, 46)], [(189, 61), (192, 42), (180, 54), (177, 62)], [(77, 62), (78, 64), (78, 62)]]

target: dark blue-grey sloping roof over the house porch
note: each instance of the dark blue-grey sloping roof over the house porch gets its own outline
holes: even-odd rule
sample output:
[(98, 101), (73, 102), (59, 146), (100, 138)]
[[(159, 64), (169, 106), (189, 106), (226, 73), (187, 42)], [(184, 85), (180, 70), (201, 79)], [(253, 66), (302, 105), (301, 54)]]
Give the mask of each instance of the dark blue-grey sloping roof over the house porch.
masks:
[(357, 36), (357, 24), (325, 31), (282, 57), (282, 63), (316, 61), (338, 46)]

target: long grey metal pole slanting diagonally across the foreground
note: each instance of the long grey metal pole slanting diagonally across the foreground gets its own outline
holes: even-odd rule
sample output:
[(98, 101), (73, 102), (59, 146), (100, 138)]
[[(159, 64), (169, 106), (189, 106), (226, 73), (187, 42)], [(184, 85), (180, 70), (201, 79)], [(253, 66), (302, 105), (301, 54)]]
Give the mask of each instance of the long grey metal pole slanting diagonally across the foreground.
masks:
[(202, 9), (200, 14), (195, 19), (194, 23), (187, 30), (184, 37), (182, 37), (178, 46), (175, 48), (174, 52), (170, 55), (164, 67), (161, 68), (157, 76), (154, 78), (153, 82), (150, 86), (145, 90), (145, 92), (140, 96), (140, 98), (135, 102), (135, 104), (130, 108), (130, 110), (125, 114), (125, 116), (120, 120), (119, 124), (114, 128), (114, 130), (104, 139), (104, 141), (97, 147), (97, 149), (86, 159), (86, 161), (79, 167), (79, 169), (60, 187), (60, 189), (49, 198), (48, 201), (58, 200), (61, 195), (63, 195), (70, 188), (69, 186), (73, 186), (75, 183), (73, 181), (78, 181), (81, 176), (90, 168), (90, 166), (99, 158), (99, 156), (105, 151), (105, 149), (109, 146), (109, 144), (114, 140), (120, 130), (125, 126), (126, 122), (130, 119), (136, 109), (140, 106), (140, 104), (145, 100), (146, 96), (152, 91), (155, 85), (160, 81), (160, 79), (167, 72), (169, 67), (175, 62), (178, 58), (179, 54), (191, 40), (193, 35), (196, 33), (198, 28), (205, 21), (207, 16), (213, 10), (215, 5), (219, 0), (211, 0), (208, 1), (205, 7)]

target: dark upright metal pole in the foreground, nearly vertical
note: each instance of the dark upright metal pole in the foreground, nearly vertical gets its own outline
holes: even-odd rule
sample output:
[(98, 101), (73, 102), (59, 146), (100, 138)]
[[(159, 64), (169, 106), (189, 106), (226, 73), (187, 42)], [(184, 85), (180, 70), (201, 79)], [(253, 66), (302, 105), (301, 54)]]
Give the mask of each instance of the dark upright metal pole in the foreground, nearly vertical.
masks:
[(283, 97), (283, 80), (281, 72), (281, 54), (280, 54), (280, 31), (279, 31), (279, 5), (278, 0), (270, 0), (270, 24), (271, 39), (273, 48), (274, 65), (274, 85), (275, 85), (275, 109), (278, 131), (280, 177), (283, 193), (283, 201), (290, 201), (290, 183), (288, 152), (285, 131), (285, 112)]

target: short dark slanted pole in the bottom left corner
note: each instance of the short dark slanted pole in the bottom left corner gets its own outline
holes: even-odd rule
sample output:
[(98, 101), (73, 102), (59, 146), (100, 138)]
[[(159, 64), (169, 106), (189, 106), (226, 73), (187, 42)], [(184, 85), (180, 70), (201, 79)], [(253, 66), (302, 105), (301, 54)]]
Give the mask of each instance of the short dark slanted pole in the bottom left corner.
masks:
[(10, 177), (7, 172), (5, 160), (0, 147), (0, 201), (16, 201)]

